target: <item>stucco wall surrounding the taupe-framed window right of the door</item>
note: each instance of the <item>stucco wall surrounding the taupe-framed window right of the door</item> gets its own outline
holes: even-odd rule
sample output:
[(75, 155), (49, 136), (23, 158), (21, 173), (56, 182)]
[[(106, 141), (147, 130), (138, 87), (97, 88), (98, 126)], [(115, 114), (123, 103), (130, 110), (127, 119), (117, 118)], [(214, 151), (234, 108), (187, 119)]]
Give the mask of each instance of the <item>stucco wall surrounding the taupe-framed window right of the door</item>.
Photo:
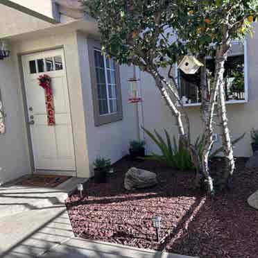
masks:
[(98, 156), (109, 157), (112, 162), (128, 154), (129, 141), (135, 139), (137, 120), (133, 105), (128, 104), (128, 78), (132, 77), (132, 68), (122, 66), (121, 88), (123, 100), (123, 120), (108, 123), (103, 126), (94, 126), (94, 112), (92, 103), (92, 87), (89, 74), (89, 53), (87, 38), (78, 33), (78, 49), (80, 52), (80, 67), (83, 80), (83, 100), (86, 114), (87, 146), (89, 164), (92, 165)]

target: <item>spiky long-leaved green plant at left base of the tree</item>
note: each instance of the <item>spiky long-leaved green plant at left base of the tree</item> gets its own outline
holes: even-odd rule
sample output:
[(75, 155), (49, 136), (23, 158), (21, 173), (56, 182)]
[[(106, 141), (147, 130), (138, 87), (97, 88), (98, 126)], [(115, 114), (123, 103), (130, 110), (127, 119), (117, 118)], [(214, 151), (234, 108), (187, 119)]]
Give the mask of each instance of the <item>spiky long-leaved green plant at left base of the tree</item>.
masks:
[(179, 169), (180, 171), (193, 169), (189, 151), (184, 148), (182, 144), (177, 144), (175, 136), (173, 136), (172, 143), (169, 133), (166, 131), (166, 129), (164, 129), (166, 141), (156, 130), (154, 130), (155, 134), (153, 134), (146, 128), (142, 129), (144, 130), (144, 132), (146, 132), (146, 135), (148, 135), (148, 137), (150, 137), (150, 139), (157, 145), (157, 147), (160, 148), (162, 152), (162, 155), (151, 153), (150, 157), (144, 158), (145, 160), (155, 160), (158, 162), (162, 162), (166, 164), (166, 166)]

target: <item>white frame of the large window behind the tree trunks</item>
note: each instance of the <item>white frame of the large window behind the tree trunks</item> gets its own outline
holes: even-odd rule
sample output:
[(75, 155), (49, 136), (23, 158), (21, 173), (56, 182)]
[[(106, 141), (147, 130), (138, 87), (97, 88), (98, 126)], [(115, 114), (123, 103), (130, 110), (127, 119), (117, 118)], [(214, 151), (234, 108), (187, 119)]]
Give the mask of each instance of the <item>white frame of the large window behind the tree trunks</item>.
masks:
[[(241, 43), (239, 40), (234, 40), (232, 41), (232, 45), (234, 44), (239, 44)], [(248, 82), (248, 49), (247, 49), (247, 40), (244, 40), (243, 42), (243, 53), (232, 53), (229, 56), (237, 56), (237, 55), (243, 55), (244, 58), (244, 87), (245, 87), (245, 99), (235, 101), (225, 101), (226, 104), (240, 104), (240, 103), (248, 103), (248, 89), (249, 89), (249, 82)], [(175, 78), (178, 78), (178, 88), (180, 89), (181, 84), (180, 84), (180, 77), (178, 73), (178, 63), (175, 63)], [(184, 107), (195, 107), (195, 106), (200, 106), (202, 103), (185, 103)], [(179, 104), (178, 104), (179, 106)]]

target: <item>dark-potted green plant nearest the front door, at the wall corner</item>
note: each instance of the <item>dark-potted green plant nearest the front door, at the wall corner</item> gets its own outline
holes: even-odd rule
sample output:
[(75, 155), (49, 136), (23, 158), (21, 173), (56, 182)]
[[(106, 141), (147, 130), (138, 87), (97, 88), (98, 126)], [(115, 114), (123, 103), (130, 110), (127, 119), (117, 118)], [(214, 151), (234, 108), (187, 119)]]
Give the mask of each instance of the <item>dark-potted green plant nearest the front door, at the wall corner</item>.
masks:
[(96, 183), (107, 182), (107, 173), (110, 171), (111, 161), (105, 157), (97, 157), (94, 165), (94, 180)]

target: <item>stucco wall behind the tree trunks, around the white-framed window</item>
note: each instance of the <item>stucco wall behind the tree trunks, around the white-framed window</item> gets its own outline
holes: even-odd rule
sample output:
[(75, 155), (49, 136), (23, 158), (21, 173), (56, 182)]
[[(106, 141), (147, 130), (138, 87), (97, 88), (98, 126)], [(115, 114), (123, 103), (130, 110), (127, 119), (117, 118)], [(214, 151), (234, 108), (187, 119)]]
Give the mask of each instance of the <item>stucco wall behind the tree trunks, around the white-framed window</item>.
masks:
[[(247, 103), (227, 104), (228, 123), (232, 138), (235, 139), (246, 132), (246, 136), (236, 144), (234, 155), (248, 157), (252, 155), (250, 146), (250, 130), (258, 128), (258, 23), (255, 23), (255, 35), (247, 40), (248, 55), (248, 95)], [(169, 108), (166, 107), (160, 92), (155, 87), (153, 78), (141, 73), (142, 98), (144, 100), (144, 127), (162, 132), (163, 128), (169, 130), (171, 135), (178, 135), (175, 119)], [(196, 139), (203, 132), (203, 123), (200, 120), (200, 106), (186, 107), (191, 124), (191, 136)], [(218, 130), (216, 130), (218, 133)], [(157, 151), (157, 147), (146, 137), (148, 150)], [(221, 140), (218, 141), (221, 145)]]

